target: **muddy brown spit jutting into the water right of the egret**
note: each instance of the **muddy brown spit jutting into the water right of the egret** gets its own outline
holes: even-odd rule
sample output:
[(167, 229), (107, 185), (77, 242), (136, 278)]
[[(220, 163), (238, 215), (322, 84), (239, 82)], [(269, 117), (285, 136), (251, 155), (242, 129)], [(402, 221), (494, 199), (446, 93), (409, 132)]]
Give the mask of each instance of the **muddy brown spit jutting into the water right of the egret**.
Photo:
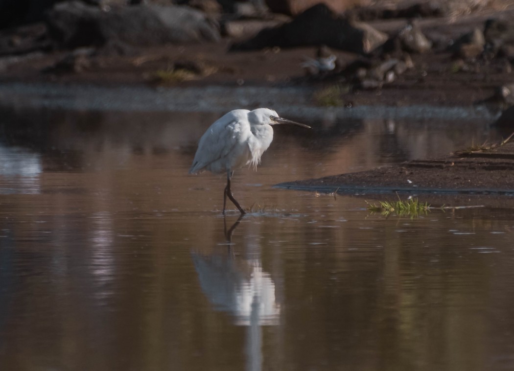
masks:
[(444, 158), (318, 179), (280, 183), (277, 188), (340, 194), (514, 195), (514, 143), (469, 149)]

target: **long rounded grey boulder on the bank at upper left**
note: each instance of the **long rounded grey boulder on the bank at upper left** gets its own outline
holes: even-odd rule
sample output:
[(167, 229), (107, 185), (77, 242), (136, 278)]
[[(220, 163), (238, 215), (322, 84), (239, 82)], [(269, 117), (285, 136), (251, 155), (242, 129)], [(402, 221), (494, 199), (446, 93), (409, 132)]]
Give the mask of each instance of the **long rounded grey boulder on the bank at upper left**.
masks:
[(218, 41), (217, 28), (201, 12), (183, 6), (135, 5), (102, 11), (78, 1), (57, 4), (47, 14), (51, 39), (62, 48), (135, 46)]

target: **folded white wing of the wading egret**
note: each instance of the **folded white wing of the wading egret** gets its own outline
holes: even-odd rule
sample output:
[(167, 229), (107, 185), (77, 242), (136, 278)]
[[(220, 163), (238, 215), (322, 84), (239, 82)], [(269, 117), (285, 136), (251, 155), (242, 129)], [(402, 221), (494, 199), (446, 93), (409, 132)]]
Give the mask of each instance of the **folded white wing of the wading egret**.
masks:
[(230, 160), (230, 154), (243, 142), (244, 126), (240, 120), (228, 114), (214, 122), (198, 142), (189, 173), (194, 174), (205, 168), (215, 173), (226, 170), (225, 163)]

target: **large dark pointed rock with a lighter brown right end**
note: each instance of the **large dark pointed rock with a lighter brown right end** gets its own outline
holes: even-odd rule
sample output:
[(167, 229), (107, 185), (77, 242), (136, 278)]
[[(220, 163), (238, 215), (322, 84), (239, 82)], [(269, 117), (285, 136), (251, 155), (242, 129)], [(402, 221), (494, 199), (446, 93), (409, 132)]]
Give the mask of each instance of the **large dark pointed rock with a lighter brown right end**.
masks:
[(264, 29), (254, 38), (233, 44), (231, 49), (327, 45), (331, 48), (365, 53), (376, 46), (377, 40), (384, 38), (386, 36), (379, 31), (371, 31), (371, 26), (356, 27), (345, 18), (334, 14), (326, 5), (318, 4), (291, 22), (276, 28)]

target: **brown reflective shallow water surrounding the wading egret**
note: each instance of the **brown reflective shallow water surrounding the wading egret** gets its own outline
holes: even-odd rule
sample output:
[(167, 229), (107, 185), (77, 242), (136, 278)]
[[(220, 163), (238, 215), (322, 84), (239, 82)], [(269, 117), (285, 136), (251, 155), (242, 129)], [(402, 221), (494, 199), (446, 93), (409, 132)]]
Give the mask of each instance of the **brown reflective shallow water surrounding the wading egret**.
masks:
[(411, 219), (272, 188), (445, 155), (486, 123), (278, 128), (234, 176), (238, 220), (223, 176), (187, 175), (218, 114), (2, 109), (0, 369), (514, 367), (512, 201)]

